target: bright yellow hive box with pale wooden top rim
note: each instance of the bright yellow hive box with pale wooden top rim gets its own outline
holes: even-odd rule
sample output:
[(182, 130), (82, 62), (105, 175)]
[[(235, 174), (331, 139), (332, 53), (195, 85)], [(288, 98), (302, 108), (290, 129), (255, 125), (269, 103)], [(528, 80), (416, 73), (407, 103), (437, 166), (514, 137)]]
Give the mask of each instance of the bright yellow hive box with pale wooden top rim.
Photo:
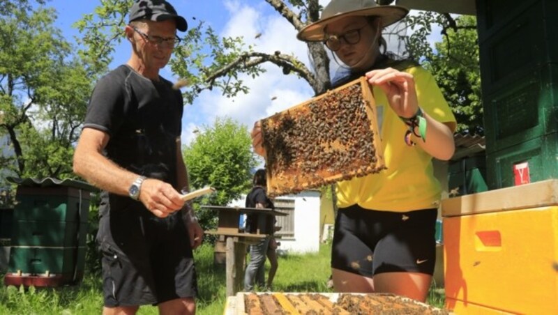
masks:
[(442, 201), (446, 308), (558, 314), (558, 180)]

